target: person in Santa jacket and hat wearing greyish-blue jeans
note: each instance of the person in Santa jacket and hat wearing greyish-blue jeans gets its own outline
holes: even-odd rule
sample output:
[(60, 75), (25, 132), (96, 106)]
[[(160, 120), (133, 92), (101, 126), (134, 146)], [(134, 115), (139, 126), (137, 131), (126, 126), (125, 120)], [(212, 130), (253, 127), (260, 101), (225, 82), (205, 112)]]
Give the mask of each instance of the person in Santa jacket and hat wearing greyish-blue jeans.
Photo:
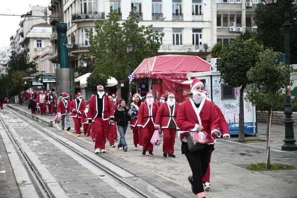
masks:
[(64, 130), (65, 127), (65, 119), (66, 119), (66, 126), (67, 126), (67, 131), (69, 131), (70, 128), (70, 121), (69, 121), (69, 106), (70, 106), (70, 102), (69, 100), (69, 95), (64, 93), (64, 98), (61, 99), (58, 103), (57, 106), (57, 113), (61, 114), (61, 129)]

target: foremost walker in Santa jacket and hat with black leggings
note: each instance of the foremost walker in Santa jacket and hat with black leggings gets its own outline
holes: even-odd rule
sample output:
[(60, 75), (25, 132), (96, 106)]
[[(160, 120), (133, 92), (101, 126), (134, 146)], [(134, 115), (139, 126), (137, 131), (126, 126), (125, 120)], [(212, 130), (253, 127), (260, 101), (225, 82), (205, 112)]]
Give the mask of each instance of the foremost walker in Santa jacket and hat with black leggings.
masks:
[(197, 78), (192, 78), (191, 92), (185, 92), (188, 99), (179, 107), (176, 123), (181, 131), (178, 132), (179, 139), (182, 141), (182, 153), (190, 164), (192, 175), (188, 177), (192, 185), (192, 191), (198, 195), (198, 198), (205, 198), (202, 184), (202, 176), (205, 174), (211, 152), (214, 150), (213, 145), (203, 145), (202, 149), (191, 152), (189, 150), (186, 134), (190, 131), (204, 131), (214, 138), (220, 138), (218, 130), (220, 120), (215, 105), (206, 100), (203, 93), (204, 85)]

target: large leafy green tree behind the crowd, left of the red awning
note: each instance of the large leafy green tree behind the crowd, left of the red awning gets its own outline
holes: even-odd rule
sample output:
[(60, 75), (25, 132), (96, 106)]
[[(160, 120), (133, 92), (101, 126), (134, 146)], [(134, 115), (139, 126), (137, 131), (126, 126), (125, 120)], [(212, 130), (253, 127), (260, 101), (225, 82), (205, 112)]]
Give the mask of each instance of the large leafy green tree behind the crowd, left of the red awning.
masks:
[(117, 10), (110, 10), (107, 19), (95, 22), (95, 31), (88, 31), (90, 57), (95, 70), (118, 81), (117, 92), (121, 97), (121, 83), (128, 82), (128, 56), (126, 46), (134, 46), (132, 71), (144, 58), (153, 56), (160, 47), (163, 34), (153, 32), (152, 26), (138, 26), (139, 14), (130, 12), (122, 24), (119, 23)]

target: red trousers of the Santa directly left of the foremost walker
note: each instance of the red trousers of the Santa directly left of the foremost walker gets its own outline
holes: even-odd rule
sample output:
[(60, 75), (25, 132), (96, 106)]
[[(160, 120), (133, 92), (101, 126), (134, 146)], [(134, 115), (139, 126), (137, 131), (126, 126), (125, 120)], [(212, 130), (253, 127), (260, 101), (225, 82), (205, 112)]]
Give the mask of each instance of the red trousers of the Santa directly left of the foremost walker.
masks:
[(174, 153), (176, 129), (163, 129), (163, 152)]

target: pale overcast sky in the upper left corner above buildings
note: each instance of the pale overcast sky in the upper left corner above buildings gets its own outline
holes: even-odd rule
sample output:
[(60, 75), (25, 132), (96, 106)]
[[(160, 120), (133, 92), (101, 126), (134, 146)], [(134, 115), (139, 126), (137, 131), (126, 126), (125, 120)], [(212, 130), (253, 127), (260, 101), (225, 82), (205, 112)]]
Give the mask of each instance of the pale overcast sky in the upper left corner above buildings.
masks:
[[(49, 6), (49, 4), (50, 0), (0, 0), (0, 14), (26, 14), (31, 10), (31, 6)], [(15, 35), (21, 20), (20, 16), (0, 15), (0, 49), (3, 46), (9, 47), (9, 38)]]

